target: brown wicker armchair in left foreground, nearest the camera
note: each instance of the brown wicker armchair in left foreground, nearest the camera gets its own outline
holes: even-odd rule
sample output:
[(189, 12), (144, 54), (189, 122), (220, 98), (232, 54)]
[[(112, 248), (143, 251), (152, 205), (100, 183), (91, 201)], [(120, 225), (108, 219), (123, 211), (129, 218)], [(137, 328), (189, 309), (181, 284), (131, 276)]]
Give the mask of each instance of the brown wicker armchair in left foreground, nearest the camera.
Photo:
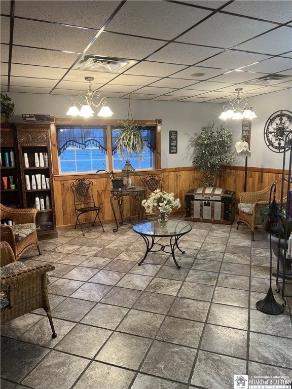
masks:
[[(0, 243), (0, 251), (1, 266), (15, 262), (15, 256), (7, 242)], [(47, 287), (47, 271), (54, 268), (51, 264), (44, 264), (28, 267), (0, 278), (1, 292), (5, 293), (9, 300), (8, 306), (1, 309), (1, 324), (35, 309), (44, 308), (52, 329), (52, 338), (57, 336), (52, 321)]]

